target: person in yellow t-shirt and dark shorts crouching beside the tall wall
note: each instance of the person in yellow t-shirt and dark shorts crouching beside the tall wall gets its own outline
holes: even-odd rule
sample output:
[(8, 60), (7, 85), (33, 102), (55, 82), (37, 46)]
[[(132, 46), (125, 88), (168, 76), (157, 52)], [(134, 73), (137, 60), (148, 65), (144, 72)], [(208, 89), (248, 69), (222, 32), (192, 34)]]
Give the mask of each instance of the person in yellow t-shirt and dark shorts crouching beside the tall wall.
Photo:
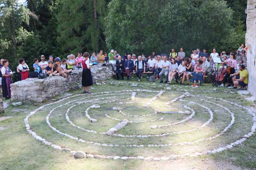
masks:
[[(245, 86), (248, 84), (248, 71), (245, 69), (243, 64), (239, 65), (239, 72), (235, 74), (230, 74), (233, 76), (234, 88), (237, 86), (241, 87), (240, 90), (243, 90)], [(232, 88), (232, 87), (229, 87)]]

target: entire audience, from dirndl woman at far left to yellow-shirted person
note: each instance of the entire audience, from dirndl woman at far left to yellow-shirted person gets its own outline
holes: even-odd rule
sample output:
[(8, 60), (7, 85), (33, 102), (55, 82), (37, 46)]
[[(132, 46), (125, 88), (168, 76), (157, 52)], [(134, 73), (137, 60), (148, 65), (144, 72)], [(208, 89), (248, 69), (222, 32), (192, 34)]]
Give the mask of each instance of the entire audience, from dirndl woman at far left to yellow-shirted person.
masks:
[[(248, 72), (243, 65), (242, 58), (239, 62), (236, 61), (236, 55), (246, 54), (247, 48), (241, 45), (237, 51), (237, 54), (231, 52), (227, 56), (225, 51), (222, 51), (219, 55), (215, 48), (212, 49), (212, 53), (208, 54), (207, 50), (201, 51), (199, 48), (192, 51), (192, 54), (187, 57), (184, 49), (180, 48), (179, 52), (172, 49), (169, 55), (161, 54), (157, 55), (154, 51), (151, 55), (145, 56), (141, 54), (137, 55), (132, 52), (131, 54), (125, 53), (123, 57), (116, 51), (111, 49), (109, 53), (101, 50), (98, 54), (92, 53), (89, 57), (89, 62), (92, 65), (98, 64), (110, 64), (113, 71), (116, 73), (117, 79), (124, 79), (126, 74), (127, 79), (131, 79), (133, 75), (137, 76), (137, 81), (142, 80), (143, 74), (147, 77), (153, 77), (154, 79), (160, 79), (160, 83), (172, 83), (173, 80), (180, 85), (186, 85), (189, 82), (198, 83), (202, 85), (205, 77), (212, 77), (216, 79), (216, 75), (219, 71), (224, 71), (224, 78), (220, 81), (221, 87), (229, 88), (244, 88), (248, 84)], [(213, 62), (214, 58), (220, 58), (221, 63)], [(62, 76), (67, 78), (68, 74), (71, 74), (73, 70), (82, 68), (81, 62), (84, 60), (81, 52), (77, 53), (77, 57), (74, 54), (67, 56), (67, 59), (60, 59), (60, 57), (49, 56), (46, 60), (44, 55), (41, 55), (40, 60), (35, 58), (33, 68), (29, 68), (23, 58), (19, 59), (19, 65), (17, 66), (18, 80), (24, 80), (29, 78), (30, 72), (34, 71), (36, 74), (47, 74), (47, 76)], [(1, 59), (0, 64), (0, 85), (3, 89), (4, 97), (10, 97), (10, 84), (12, 83), (12, 72), (9, 67), (9, 62), (6, 59)], [(221, 69), (225, 68), (225, 69)]]

